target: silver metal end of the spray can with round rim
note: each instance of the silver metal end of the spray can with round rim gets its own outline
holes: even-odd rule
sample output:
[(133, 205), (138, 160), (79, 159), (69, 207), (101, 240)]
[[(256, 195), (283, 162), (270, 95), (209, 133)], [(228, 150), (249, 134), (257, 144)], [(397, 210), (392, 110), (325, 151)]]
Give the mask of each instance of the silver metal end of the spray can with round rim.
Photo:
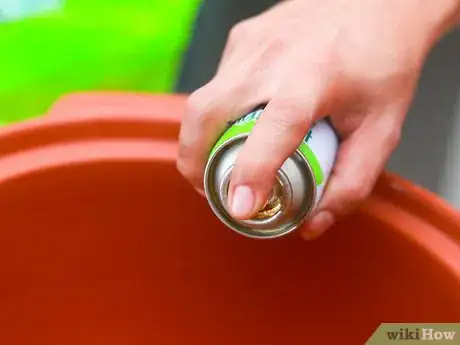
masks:
[[(234, 219), (228, 212), (231, 172), (245, 137), (233, 138), (209, 159), (205, 170), (205, 193), (215, 215), (230, 229), (252, 238), (275, 238), (297, 229), (311, 212), (316, 194), (314, 175), (299, 153), (289, 157), (278, 171), (274, 189), (277, 205), (269, 205), (255, 217)], [(276, 209), (278, 208), (278, 209)], [(264, 211), (268, 211), (265, 212)]]

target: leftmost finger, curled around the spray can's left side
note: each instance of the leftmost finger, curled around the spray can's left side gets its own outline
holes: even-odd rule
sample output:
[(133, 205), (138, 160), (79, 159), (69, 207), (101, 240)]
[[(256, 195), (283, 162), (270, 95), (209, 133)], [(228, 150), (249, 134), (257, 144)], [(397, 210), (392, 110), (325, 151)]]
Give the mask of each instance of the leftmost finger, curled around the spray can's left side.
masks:
[(248, 92), (244, 85), (233, 86), (231, 90), (225, 90), (220, 85), (211, 82), (189, 97), (179, 135), (177, 168), (202, 195), (209, 150), (228, 121), (244, 115), (255, 106), (246, 97)]

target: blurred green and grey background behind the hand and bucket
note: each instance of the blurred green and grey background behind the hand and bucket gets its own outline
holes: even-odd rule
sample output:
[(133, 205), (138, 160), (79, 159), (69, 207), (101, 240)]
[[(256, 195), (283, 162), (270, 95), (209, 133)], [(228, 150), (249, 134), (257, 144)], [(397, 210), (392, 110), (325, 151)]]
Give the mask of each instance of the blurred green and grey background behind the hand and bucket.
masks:
[[(0, 121), (93, 89), (191, 92), (228, 30), (274, 0), (0, 0)], [(428, 58), (388, 169), (460, 208), (460, 31)]]

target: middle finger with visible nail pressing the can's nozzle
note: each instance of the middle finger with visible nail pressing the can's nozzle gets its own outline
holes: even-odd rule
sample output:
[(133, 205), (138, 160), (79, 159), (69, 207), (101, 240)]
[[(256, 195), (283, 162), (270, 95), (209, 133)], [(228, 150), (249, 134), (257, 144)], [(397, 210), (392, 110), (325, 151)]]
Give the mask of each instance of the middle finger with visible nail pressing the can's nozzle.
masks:
[(319, 117), (320, 99), (313, 97), (310, 104), (276, 99), (268, 103), (232, 171), (228, 208), (233, 217), (250, 218), (264, 206), (278, 169)]

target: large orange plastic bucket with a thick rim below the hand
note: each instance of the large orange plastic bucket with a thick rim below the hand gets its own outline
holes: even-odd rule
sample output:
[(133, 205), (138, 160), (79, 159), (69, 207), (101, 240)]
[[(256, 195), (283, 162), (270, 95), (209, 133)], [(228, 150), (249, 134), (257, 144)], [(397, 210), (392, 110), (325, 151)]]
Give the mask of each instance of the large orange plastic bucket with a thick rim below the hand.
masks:
[(324, 237), (247, 239), (175, 169), (182, 96), (82, 94), (0, 132), (0, 343), (362, 344), (460, 320), (460, 217), (384, 175)]

